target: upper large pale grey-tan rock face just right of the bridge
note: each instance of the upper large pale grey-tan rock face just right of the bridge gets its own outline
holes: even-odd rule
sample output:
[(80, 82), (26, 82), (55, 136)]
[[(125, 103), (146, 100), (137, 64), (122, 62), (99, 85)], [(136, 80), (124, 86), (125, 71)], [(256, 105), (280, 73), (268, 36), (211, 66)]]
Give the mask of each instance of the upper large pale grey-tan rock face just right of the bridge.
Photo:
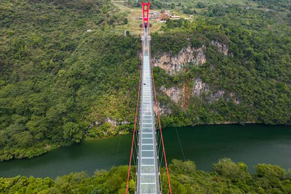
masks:
[(174, 74), (181, 71), (183, 66), (188, 63), (203, 65), (206, 62), (203, 49), (204, 47), (195, 49), (187, 46), (174, 56), (171, 53), (163, 53), (159, 59), (152, 58), (152, 63), (154, 66), (164, 69), (167, 73)]

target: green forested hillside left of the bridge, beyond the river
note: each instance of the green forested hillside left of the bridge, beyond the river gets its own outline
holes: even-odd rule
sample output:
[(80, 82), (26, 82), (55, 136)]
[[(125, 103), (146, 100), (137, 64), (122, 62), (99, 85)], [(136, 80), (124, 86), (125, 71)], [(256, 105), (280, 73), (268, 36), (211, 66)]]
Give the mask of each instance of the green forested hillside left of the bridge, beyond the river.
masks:
[(105, 0), (0, 6), (0, 160), (116, 134), (108, 124), (88, 130), (106, 118), (131, 121), (140, 43), (106, 32), (118, 22), (110, 15), (116, 7)]

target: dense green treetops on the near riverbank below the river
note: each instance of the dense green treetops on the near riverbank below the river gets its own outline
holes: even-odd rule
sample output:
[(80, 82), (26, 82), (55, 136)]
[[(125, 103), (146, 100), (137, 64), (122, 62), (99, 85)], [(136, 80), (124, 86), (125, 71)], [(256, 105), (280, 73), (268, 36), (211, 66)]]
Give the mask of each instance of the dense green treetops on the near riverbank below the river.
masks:
[[(170, 164), (173, 194), (290, 194), (291, 172), (277, 165), (257, 164), (256, 172), (248, 173), (243, 162), (222, 159), (213, 164), (213, 172), (196, 170), (194, 162), (173, 160)], [(3, 194), (124, 194), (128, 166), (96, 171), (70, 173), (51, 178), (0, 178)], [(163, 171), (162, 171), (163, 173)], [(133, 168), (135, 175), (135, 168)], [(134, 194), (135, 182), (130, 179), (129, 193)], [(163, 184), (163, 193), (168, 185)]]

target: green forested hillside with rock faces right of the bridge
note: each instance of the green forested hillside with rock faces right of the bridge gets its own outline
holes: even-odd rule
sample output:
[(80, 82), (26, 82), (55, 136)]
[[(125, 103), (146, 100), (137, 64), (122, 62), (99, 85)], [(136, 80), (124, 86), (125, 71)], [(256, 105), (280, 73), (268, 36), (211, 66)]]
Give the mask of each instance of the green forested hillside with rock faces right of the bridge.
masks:
[[(171, 110), (164, 122), (290, 124), (291, 28), (284, 22), (287, 18), (273, 12), (237, 5), (208, 8), (194, 21), (168, 20), (163, 36), (153, 34), (153, 55), (161, 50), (174, 55), (190, 45), (201, 48), (206, 58), (204, 64), (189, 63), (174, 75), (155, 69), (159, 86), (183, 88), (178, 93), (182, 109), (169, 105), (169, 97), (160, 98)], [(171, 41), (165, 43), (165, 37)], [(206, 85), (201, 89), (205, 96), (187, 99), (187, 87), (198, 87), (199, 79)]]

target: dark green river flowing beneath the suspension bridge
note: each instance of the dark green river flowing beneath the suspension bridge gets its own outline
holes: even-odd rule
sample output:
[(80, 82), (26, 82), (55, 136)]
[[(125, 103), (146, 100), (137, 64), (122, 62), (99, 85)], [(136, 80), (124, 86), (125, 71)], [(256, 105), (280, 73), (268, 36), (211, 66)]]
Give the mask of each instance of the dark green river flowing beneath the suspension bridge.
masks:
[[(257, 163), (291, 168), (290, 126), (202, 125), (177, 131), (186, 160), (194, 161), (198, 170), (211, 171), (212, 163), (223, 157), (245, 162), (251, 173)], [(176, 129), (164, 129), (163, 137), (168, 163), (173, 158), (183, 160)], [(80, 171), (92, 175), (96, 169), (109, 170), (113, 165), (128, 164), (131, 140), (132, 133), (100, 138), (60, 147), (33, 159), (0, 162), (0, 177), (55, 178)]]

